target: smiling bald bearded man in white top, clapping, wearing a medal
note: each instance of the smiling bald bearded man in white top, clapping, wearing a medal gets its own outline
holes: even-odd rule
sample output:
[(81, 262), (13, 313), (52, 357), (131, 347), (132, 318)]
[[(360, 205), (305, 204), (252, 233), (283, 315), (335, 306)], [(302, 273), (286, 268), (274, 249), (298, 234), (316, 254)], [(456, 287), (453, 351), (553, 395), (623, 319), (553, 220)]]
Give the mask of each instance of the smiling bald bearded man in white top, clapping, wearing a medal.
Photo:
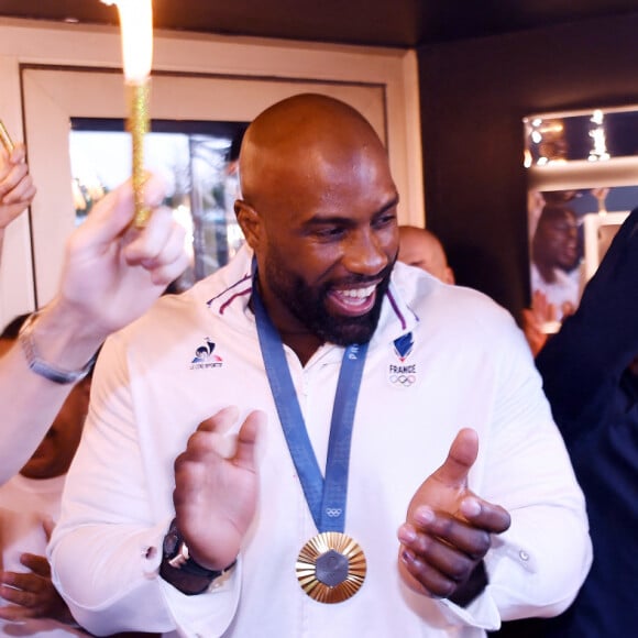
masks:
[(396, 263), (371, 125), (292, 97), (240, 176), (244, 250), (100, 356), (50, 549), (78, 622), (479, 637), (562, 610), (591, 548), (529, 350), (480, 293)]

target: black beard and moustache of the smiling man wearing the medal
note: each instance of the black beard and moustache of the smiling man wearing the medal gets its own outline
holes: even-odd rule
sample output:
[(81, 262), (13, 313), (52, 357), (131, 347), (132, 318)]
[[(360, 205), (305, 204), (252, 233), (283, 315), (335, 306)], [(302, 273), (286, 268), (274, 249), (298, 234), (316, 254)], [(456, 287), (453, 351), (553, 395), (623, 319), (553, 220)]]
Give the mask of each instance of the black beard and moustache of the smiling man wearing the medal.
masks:
[[(396, 258), (375, 277), (352, 275), (312, 288), (301, 277), (283, 267), (284, 260), (280, 258), (277, 250), (271, 250), (265, 264), (265, 275), (271, 290), (309, 331), (323, 341), (337, 345), (349, 345), (350, 343), (367, 343), (372, 339), (395, 261)], [(369, 312), (359, 317), (334, 316), (328, 312), (326, 300), (336, 285), (341, 288), (363, 286), (378, 280), (380, 277), (381, 283), (376, 286), (374, 306)]]

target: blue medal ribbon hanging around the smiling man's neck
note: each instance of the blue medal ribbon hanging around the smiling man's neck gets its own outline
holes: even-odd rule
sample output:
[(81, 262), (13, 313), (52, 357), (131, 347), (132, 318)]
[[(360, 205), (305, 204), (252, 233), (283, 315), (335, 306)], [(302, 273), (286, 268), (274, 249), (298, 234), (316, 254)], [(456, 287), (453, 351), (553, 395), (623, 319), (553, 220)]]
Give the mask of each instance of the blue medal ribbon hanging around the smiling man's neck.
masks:
[(315, 525), (320, 532), (342, 532), (345, 524), (352, 426), (367, 343), (353, 343), (343, 354), (332, 408), (326, 480), (323, 480), (308, 437), (284, 344), (261, 300), (256, 277), (253, 284), (253, 305), (271, 391)]

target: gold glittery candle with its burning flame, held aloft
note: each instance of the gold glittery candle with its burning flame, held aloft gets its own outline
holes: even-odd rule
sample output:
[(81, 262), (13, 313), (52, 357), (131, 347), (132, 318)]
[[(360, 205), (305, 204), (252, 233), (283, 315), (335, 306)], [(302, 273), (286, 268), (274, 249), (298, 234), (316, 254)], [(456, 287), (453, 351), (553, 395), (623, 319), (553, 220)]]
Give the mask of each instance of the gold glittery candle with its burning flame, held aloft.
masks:
[(133, 226), (144, 228), (151, 210), (144, 206), (144, 135), (148, 132), (148, 97), (153, 61), (152, 0), (102, 0), (117, 4), (122, 32), (124, 81), (129, 97), (127, 129), (131, 133), (133, 167), (131, 180), (135, 198)]

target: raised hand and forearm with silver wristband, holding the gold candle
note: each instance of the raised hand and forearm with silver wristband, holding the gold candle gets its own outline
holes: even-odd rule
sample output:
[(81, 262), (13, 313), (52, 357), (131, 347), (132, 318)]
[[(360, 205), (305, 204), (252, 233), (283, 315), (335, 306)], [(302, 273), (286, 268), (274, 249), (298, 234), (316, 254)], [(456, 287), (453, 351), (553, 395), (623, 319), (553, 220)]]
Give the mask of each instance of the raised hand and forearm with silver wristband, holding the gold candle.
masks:
[(151, 177), (144, 197), (153, 215), (145, 229), (132, 229), (127, 183), (69, 237), (57, 294), (0, 360), (0, 483), (31, 457), (103, 340), (147, 310), (187, 266), (184, 229), (157, 208), (163, 196), (162, 182)]

